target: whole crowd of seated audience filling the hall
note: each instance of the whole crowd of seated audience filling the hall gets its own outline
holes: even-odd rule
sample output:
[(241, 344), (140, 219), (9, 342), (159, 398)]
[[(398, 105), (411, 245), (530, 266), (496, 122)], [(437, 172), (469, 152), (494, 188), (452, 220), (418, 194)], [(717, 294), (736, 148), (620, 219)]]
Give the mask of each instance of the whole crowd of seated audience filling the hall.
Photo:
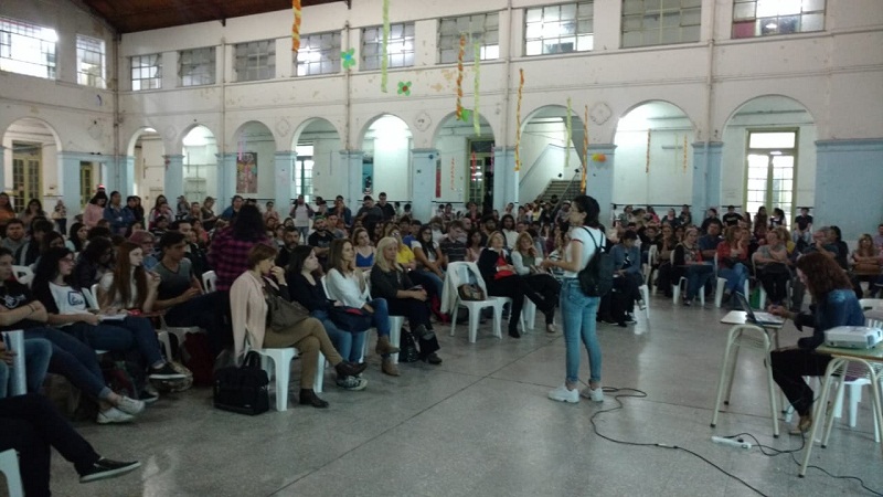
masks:
[[(404, 352), (404, 342), (414, 343), (417, 360), (440, 364), (436, 326), (462, 319), (446, 314), (450, 306), (443, 303), (451, 263), (475, 263), (472, 277), (482, 279), (488, 295), (511, 299), (510, 337), (521, 336), (525, 298), (544, 315), (546, 331), (557, 331), (562, 272), (553, 262), (563, 260), (570, 243), (568, 201), (510, 203), (502, 214), (472, 202), (462, 212), (445, 204), (432, 219), (417, 220), (409, 205), (400, 211), (385, 193), (376, 203), (364, 197), (355, 213), (342, 197), (332, 205), (299, 197), (283, 220), (273, 202), (262, 212), (240, 195), (220, 214), (212, 198), (189, 203), (181, 197), (172, 210), (159, 195), (149, 211), (138, 197), (121, 200), (119, 192), (99, 189), (67, 230), (61, 201), (51, 219), (38, 200), (17, 216), (0, 193), (0, 330), (24, 330), (29, 392), (39, 391), (46, 372), (61, 374), (96, 402), (102, 424), (130, 422), (158, 400), (157, 382), (187, 378), (163, 357), (156, 332), (161, 326), (205, 330), (205, 353), (217, 363), (225, 357), (240, 361), (251, 348), (296, 347), (302, 357), (299, 403), (315, 408), (328, 406), (313, 391), (320, 353), (334, 367), (338, 387), (366, 388), (361, 373), (370, 328), (377, 332), (383, 373), (402, 373), (393, 356)], [(780, 209), (768, 216), (762, 208), (752, 218), (731, 205), (720, 219), (710, 209), (696, 223), (688, 205), (662, 218), (652, 207), (627, 205), (606, 236), (592, 237), (606, 245), (615, 265), (614, 290), (600, 300), (597, 320), (636, 322), (635, 306), (647, 305), (645, 283), (672, 297), (685, 282), (682, 302), (690, 306), (713, 293), (717, 277), (725, 281), (724, 302), (735, 304), (734, 294), (755, 285), (770, 304), (799, 309), (805, 287), (795, 264), (813, 252), (836, 261), (860, 297), (862, 284), (876, 295), (883, 224), (851, 253), (837, 226), (813, 229), (806, 209), (794, 225), (789, 232)], [(13, 266), (30, 268), (32, 281), (17, 281)], [(209, 272), (213, 288), (203, 285)], [(297, 303), (302, 314), (277, 322), (268, 310), (277, 299)], [(393, 342), (390, 316), (405, 318), (408, 340)], [(134, 361), (151, 381), (131, 396), (114, 392), (96, 351)], [(0, 398), (8, 382), (3, 364)], [(137, 467), (82, 451), (87, 457), (68, 459), (86, 480)]]

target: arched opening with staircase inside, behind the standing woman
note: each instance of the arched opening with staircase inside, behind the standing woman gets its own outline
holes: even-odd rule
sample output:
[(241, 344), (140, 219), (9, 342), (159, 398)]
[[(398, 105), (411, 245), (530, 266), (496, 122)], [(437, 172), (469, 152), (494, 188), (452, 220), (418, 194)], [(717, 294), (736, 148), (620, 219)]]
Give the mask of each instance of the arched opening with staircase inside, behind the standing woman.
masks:
[(571, 199), (579, 192), (583, 141), (583, 118), (571, 113), (571, 136), (567, 137), (567, 108), (546, 105), (531, 113), (522, 124), (521, 175), (519, 200), (521, 203), (553, 195)]

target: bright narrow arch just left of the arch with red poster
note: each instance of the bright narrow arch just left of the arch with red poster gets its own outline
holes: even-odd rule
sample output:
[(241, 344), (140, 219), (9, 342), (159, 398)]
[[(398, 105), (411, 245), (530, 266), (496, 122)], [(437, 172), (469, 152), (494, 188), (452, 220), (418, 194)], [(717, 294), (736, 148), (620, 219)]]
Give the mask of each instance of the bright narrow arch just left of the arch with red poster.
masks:
[(184, 156), (184, 197), (190, 202), (217, 198), (217, 139), (214, 134), (202, 125), (193, 127), (184, 136), (181, 155)]

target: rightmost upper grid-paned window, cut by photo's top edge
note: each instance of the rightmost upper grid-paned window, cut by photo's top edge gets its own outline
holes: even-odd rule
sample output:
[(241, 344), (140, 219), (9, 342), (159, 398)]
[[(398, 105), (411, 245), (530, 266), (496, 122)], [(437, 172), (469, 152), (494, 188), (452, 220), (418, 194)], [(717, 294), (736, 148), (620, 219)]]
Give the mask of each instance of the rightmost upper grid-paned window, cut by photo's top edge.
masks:
[(733, 38), (825, 30), (825, 0), (734, 0)]

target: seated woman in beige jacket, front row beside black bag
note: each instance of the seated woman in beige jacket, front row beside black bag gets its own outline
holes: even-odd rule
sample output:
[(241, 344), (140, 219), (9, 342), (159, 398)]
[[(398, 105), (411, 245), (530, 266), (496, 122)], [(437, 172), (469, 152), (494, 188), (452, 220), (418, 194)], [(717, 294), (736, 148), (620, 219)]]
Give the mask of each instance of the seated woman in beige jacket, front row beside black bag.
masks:
[(265, 295), (274, 294), (291, 300), (285, 271), (276, 265), (276, 248), (268, 244), (260, 243), (253, 246), (246, 261), (248, 271), (237, 277), (230, 288), (235, 357), (237, 360), (242, 359), (246, 340), (256, 349), (297, 348), (301, 359), (298, 395), (300, 403), (319, 409), (328, 408), (328, 402), (320, 399), (312, 389), (319, 364), (319, 352), (325, 355), (339, 377), (354, 377), (364, 371), (365, 364), (344, 361), (328, 339), (322, 322), (316, 318), (305, 316), (302, 320), (284, 329), (267, 326), (268, 306)]

